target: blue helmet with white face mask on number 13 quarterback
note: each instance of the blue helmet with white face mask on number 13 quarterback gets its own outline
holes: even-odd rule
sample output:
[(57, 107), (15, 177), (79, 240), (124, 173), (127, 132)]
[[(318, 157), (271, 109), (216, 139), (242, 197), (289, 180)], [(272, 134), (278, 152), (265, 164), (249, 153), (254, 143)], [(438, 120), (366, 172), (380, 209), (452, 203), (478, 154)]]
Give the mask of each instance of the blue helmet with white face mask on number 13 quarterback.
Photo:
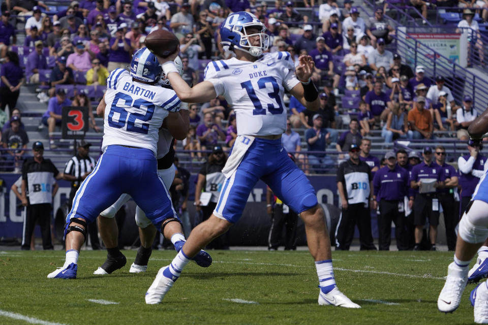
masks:
[[(258, 28), (259, 32), (247, 34), (248, 27)], [(269, 36), (265, 31), (266, 26), (258, 17), (246, 11), (238, 11), (230, 14), (220, 27), (221, 44), (228, 46), (229, 49), (238, 48), (252, 56), (260, 56), (269, 47)], [(259, 36), (259, 46), (253, 46), (248, 41), (252, 36)]]

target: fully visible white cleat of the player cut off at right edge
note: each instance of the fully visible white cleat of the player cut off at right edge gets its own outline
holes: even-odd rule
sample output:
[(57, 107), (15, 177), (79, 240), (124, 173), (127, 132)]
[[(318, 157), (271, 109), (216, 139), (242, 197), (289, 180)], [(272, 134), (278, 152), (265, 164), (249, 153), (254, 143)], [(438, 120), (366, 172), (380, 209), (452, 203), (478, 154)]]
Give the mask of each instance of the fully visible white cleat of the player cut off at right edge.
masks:
[(454, 262), (447, 268), (447, 278), (437, 299), (437, 308), (444, 313), (451, 313), (459, 307), (464, 288), (468, 282), (468, 268), (461, 269)]

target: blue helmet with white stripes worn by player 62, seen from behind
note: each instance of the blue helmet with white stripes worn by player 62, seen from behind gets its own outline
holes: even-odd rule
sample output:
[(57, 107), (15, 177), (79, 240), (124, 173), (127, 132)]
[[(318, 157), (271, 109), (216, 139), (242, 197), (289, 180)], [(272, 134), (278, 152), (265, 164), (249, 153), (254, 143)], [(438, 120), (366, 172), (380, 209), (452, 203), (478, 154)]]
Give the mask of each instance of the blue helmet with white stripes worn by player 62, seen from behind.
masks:
[(147, 47), (137, 50), (132, 56), (132, 78), (145, 82), (155, 82), (159, 80), (162, 72), (163, 69), (161, 64), (159, 64), (158, 58)]

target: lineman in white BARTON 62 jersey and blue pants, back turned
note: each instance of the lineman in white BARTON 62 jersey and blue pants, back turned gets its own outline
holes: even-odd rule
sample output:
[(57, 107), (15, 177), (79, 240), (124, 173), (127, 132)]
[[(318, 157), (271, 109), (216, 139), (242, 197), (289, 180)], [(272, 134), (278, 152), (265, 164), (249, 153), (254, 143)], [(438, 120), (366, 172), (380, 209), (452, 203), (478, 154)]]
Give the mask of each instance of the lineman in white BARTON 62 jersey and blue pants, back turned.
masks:
[[(180, 226), (157, 173), (156, 151), (161, 126), (180, 140), (186, 137), (185, 121), (178, 113), (181, 101), (175, 92), (154, 85), (161, 72), (156, 56), (142, 48), (132, 57), (130, 73), (116, 69), (107, 78), (107, 91), (97, 108), (105, 111), (103, 154), (81, 183), (67, 216), (65, 264), (48, 278), (76, 278), (86, 222), (93, 221), (123, 193), (132, 196), (161, 233), (174, 232), (174, 227)], [(154, 193), (163, 195), (156, 199)]]

